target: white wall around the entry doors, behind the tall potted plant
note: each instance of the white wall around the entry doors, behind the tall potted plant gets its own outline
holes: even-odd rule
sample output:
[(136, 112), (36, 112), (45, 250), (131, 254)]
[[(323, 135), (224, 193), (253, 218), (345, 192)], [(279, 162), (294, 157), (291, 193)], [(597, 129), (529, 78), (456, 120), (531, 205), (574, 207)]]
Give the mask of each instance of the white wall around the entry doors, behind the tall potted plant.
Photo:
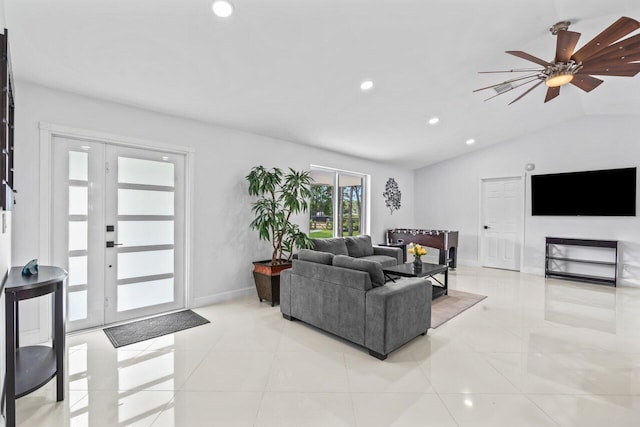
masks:
[[(17, 86), (15, 182), (19, 194), (13, 239), (17, 264), (36, 258), (39, 252), (37, 153), (41, 121), (195, 149), (191, 284), (195, 305), (253, 287), (251, 261), (270, 254), (267, 244), (258, 244), (257, 233), (248, 227), (251, 200), (244, 177), (255, 165), (308, 169), (316, 164), (370, 174), (373, 240), (383, 241), (387, 228), (413, 224), (413, 203), (408, 197), (413, 193), (413, 171), (25, 82), (19, 81)], [(402, 209), (393, 215), (382, 197), (389, 177), (398, 181), (405, 195)], [(308, 227), (306, 221), (304, 226)]]

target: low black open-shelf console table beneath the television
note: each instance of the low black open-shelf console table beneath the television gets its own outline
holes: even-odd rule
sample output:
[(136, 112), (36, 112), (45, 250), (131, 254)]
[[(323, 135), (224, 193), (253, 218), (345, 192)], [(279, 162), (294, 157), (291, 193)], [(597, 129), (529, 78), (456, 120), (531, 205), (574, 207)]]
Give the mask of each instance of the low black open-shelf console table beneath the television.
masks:
[[(617, 240), (590, 240), (590, 239), (567, 239), (562, 237), (547, 237), (544, 260), (544, 277), (556, 277), (560, 279), (577, 280), (581, 282), (597, 283), (601, 285), (616, 286), (618, 276), (618, 241)], [(607, 248), (612, 251), (611, 261), (590, 260), (583, 258), (570, 258), (557, 256), (552, 253), (551, 246), (584, 246), (591, 248)], [(613, 268), (612, 276), (594, 276), (589, 274), (569, 273), (565, 271), (552, 270), (549, 264), (552, 261), (567, 263), (581, 263), (591, 265), (602, 265)]]

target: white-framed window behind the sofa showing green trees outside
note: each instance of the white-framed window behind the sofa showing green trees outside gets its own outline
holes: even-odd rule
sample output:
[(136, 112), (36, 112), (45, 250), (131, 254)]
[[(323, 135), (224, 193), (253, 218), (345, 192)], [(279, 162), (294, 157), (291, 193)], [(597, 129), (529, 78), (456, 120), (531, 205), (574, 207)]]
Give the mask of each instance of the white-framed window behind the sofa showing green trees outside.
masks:
[(366, 175), (312, 166), (311, 178), (311, 238), (368, 234)]

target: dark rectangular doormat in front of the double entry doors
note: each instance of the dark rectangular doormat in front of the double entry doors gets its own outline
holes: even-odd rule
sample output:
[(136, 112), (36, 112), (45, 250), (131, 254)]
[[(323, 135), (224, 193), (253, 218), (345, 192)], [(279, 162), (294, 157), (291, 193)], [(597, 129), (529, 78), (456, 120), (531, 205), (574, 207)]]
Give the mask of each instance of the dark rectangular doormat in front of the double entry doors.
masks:
[(191, 310), (184, 310), (103, 330), (111, 344), (118, 348), (206, 323), (209, 323), (209, 321), (199, 314)]

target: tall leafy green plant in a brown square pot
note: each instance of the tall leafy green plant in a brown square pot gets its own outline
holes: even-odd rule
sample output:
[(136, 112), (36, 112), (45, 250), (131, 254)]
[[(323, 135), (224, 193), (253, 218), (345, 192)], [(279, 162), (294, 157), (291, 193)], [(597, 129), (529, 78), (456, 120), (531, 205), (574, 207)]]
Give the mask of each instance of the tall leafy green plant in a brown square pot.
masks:
[(291, 216), (305, 212), (311, 198), (311, 176), (307, 171), (256, 166), (246, 176), (254, 219), (249, 227), (260, 240), (271, 242), (271, 259), (253, 263), (253, 278), (260, 301), (280, 302), (280, 272), (291, 267), (295, 248), (311, 247), (311, 239), (292, 223)]

